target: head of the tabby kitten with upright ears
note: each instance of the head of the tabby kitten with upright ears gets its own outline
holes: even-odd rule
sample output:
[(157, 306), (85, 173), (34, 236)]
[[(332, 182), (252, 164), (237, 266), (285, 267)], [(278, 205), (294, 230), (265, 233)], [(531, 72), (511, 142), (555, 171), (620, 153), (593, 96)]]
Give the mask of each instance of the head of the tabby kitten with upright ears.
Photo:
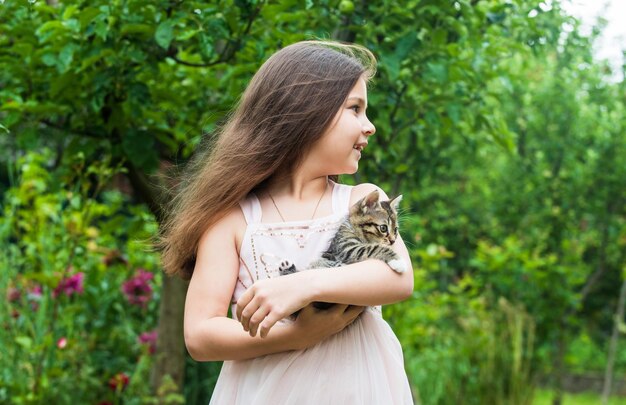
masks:
[(350, 207), (348, 220), (357, 237), (368, 243), (393, 245), (398, 237), (399, 195), (393, 200), (378, 201), (378, 191), (374, 190)]

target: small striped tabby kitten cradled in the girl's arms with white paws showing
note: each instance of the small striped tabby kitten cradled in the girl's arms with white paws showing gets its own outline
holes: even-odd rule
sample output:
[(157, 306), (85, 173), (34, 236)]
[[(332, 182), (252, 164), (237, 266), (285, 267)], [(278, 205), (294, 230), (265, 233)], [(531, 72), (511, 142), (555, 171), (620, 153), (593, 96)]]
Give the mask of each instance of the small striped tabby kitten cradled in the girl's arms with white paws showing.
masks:
[[(356, 202), (341, 223), (337, 233), (322, 257), (309, 265), (310, 269), (339, 267), (366, 259), (384, 261), (397, 273), (406, 271), (407, 266), (391, 245), (398, 237), (397, 209), (402, 196), (389, 201), (378, 201), (374, 190)], [(295, 273), (296, 267), (288, 261), (280, 265), (280, 275)], [(316, 302), (320, 309), (332, 304)]]

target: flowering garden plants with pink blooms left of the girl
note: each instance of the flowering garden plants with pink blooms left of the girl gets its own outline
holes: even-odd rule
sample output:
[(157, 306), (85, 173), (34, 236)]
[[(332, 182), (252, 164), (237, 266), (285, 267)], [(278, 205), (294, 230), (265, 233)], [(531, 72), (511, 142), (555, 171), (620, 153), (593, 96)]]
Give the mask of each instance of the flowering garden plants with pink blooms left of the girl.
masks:
[[(143, 403), (151, 360), (138, 337), (154, 329), (157, 301), (132, 305), (123, 284), (137, 268), (158, 268), (138, 242), (154, 221), (104, 188), (116, 175), (109, 162), (76, 155), (62, 166), (73, 170), (51, 171), (49, 157), (21, 158), (2, 204), (0, 401)], [(120, 373), (130, 383), (111, 390)]]

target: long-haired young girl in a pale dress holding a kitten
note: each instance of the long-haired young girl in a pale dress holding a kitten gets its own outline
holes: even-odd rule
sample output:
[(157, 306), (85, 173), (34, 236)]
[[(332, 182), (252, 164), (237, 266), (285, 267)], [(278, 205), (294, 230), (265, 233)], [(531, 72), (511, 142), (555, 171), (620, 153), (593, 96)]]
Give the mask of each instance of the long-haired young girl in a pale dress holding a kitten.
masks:
[[(191, 278), (187, 349), (226, 360), (211, 404), (412, 403), (379, 307), (411, 295), (412, 271), (366, 260), (279, 276), (281, 262), (305, 269), (319, 258), (348, 208), (378, 189), (336, 182), (356, 172), (375, 132), (374, 66), (365, 48), (332, 42), (274, 54), (174, 202), (163, 262)], [(393, 248), (410, 269), (399, 237)]]

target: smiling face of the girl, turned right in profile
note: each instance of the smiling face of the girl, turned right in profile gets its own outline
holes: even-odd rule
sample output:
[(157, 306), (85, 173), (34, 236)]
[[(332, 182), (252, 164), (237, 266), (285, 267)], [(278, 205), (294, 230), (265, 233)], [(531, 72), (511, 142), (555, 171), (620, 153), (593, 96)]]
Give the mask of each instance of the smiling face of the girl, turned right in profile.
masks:
[(360, 78), (307, 160), (327, 175), (355, 173), (368, 138), (376, 132), (365, 115), (366, 109), (367, 87), (365, 80)]

